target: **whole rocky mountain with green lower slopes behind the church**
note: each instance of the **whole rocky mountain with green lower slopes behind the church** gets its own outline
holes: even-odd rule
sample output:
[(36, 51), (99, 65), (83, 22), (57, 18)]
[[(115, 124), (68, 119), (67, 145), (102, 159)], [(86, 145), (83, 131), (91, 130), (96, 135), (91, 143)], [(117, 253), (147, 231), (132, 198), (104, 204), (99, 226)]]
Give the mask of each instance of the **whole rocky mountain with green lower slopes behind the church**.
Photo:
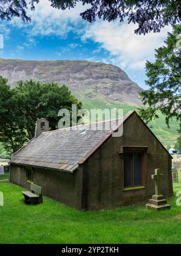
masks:
[[(138, 92), (142, 89), (121, 68), (109, 64), (88, 61), (22, 61), (0, 59), (0, 75), (7, 77), (11, 87), (18, 80), (40, 80), (67, 85), (81, 102), (83, 108), (122, 108), (124, 114), (141, 106)], [(172, 145), (178, 136), (179, 123), (175, 119), (170, 128), (165, 117), (148, 123), (164, 145)], [(2, 153), (0, 143), (0, 156)], [(6, 153), (2, 157), (7, 157)]]

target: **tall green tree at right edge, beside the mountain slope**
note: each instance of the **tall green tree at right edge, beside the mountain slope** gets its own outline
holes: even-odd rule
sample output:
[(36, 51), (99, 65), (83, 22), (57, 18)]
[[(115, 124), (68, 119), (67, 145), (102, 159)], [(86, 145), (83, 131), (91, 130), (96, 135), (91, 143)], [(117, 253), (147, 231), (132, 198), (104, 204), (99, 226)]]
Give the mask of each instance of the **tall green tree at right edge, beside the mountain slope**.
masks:
[(178, 35), (181, 25), (174, 25), (168, 33), (165, 45), (156, 50), (155, 61), (146, 63), (148, 79), (145, 83), (149, 90), (141, 91), (141, 97), (147, 108), (139, 113), (146, 122), (159, 117), (159, 111), (165, 115), (169, 127), (173, 117), (180, 122), (181, 130), (181, 44)]

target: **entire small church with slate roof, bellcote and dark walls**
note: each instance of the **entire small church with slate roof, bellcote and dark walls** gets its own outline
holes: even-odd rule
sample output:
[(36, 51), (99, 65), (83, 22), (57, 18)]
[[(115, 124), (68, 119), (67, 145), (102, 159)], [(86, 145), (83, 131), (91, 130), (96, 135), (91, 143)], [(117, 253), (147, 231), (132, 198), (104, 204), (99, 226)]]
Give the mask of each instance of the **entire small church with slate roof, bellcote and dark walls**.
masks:
[(103, 123), (103, 130), (48, 131), (40, 119), (34, 138), (10, 159), (10, 182), (42, 186), (43, 195), (80, 210), (110, 209), (147, 202), (159, 168), (161, 192), (173, 196), (171, 156), (136, 111), (119, 124), (121, 137), (113, 136), (118, 125)]

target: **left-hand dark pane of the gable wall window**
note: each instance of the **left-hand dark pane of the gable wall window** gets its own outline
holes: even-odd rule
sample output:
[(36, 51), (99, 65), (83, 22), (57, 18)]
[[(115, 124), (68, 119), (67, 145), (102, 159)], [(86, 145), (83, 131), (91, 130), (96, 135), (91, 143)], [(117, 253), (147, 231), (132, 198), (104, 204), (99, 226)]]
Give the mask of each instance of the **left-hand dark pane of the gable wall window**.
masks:
[(124, 153), (124, 187), (133, 186), (133, 153)]

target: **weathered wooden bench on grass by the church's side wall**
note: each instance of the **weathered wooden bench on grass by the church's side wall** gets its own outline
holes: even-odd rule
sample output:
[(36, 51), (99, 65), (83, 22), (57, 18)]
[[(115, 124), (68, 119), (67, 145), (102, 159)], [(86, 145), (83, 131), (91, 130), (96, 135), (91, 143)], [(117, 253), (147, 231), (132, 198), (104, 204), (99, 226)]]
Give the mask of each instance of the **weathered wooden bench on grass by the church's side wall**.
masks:
[(30, 191), (22, 191), (22, 194), (24, 194), (25, 197), (25, 203), (30, 205), (37, 205), (38, 203), (43, 203), (41, 186), (31, 183)]

